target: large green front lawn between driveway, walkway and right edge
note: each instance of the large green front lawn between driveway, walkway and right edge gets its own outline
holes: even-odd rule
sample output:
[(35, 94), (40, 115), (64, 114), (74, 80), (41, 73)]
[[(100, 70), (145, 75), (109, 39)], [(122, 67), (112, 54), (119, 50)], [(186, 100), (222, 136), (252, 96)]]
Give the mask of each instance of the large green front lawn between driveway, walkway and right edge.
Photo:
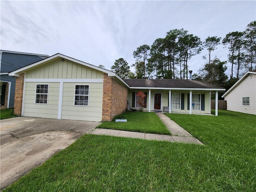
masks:
[(166, 114), (205, 145), (84, 135), (6, 191), (256, 191), (256, 116)]

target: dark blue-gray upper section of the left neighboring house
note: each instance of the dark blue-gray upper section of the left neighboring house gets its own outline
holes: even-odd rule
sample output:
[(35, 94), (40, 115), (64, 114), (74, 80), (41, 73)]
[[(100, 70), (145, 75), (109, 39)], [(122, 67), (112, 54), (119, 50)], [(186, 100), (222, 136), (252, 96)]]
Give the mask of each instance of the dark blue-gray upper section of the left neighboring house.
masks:
[(3, 51), (1, 58), (1, 73), (17, 70), (42, 59), (44, 58), (37, 55), (8, 53)]

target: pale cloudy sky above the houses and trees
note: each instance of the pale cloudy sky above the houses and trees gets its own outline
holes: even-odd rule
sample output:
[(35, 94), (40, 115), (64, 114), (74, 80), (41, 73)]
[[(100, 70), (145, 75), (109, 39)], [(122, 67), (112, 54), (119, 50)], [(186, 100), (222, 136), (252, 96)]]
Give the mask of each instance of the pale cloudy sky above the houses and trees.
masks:
[[(0, 1), (0, 49), (56, 53), (110, 70), (124, 58), (131, 66), (139, 46), (151, 46), (173, 29), (204, 41), (244, 31), (256, 20), (256, 1)], [(211, 57), (227, 60), (228, 49), (217, 46)], [(205, 61), (203, 50), (188, 61), (196, 73)], [(231, 64), (227, 64), (227, 74)], [(134, 68), (131, 68), (134, 72)]]

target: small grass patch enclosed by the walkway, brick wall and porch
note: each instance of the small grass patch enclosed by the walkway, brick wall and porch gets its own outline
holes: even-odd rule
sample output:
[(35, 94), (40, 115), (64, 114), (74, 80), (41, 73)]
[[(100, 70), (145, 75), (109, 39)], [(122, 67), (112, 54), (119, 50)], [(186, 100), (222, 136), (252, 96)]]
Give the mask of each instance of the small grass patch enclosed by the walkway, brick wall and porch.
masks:
[[(127, 122), (115, 122), (127, 119)], [(169, 130), (155, 113), (126, 111), (115, 116), (111, 122), (103, 122), (97, 128), (170, 135)]]

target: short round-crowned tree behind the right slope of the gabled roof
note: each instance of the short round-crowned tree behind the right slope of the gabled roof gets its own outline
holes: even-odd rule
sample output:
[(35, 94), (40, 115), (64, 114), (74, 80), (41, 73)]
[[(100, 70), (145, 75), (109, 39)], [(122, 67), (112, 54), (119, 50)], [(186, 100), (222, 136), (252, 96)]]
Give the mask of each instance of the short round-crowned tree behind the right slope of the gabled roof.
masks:
[(111, 70), (118, 74), (121, 78), (125, 79), (128, 77), (130, 72), (130, 66), (123, 58), (119, 58), (114, 62), (114, 65), (111, 66)]

